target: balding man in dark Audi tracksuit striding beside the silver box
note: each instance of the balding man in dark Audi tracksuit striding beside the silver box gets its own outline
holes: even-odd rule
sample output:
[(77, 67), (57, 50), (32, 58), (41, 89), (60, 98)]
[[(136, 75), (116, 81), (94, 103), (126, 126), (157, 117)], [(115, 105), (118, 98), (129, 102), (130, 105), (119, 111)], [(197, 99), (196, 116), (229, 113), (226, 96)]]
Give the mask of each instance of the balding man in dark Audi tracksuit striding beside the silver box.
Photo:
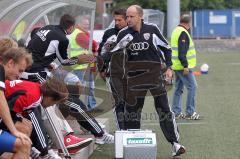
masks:
[(165, 77), (172, 78), (171, 47), (157, 25), (143, 22), (143, 9), (140, 6), (130, 6), (126, 15), (128, 27), (119, 32), (116, 46), (111, 51), (123, 50), (127, 54), (124, 65), (128, 80), (125, 129), (140, 129), (145, 96), (150, 91), (160, 127), (167, 141), (172, 144), (172, 156), (179, 156), (186, 150), (179, 144), (179, 132), (174, 113), (169, 107), (162, 71), (162, 64), (165, 64)]

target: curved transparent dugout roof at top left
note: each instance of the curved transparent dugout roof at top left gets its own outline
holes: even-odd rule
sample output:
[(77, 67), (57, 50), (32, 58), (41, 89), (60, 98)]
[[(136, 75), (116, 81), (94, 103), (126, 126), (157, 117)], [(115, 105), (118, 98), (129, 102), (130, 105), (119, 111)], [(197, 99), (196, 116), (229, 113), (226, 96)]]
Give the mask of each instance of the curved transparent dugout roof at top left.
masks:
[(34, 27), (58, 24), (60, 17), (69, 13), (75, 16), (77, 21), (81, 16), (89, 17), (92, 38), (95, 2), (88, 0), (1, 0), (0, 6), (0, 37), (26, 40)]

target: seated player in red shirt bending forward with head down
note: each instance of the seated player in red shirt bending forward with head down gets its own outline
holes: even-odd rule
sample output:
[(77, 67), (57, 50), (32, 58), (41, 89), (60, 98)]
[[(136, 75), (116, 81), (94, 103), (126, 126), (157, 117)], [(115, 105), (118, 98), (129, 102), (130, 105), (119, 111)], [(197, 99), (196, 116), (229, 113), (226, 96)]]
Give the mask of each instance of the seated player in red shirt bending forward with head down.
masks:
[[(12, 102), (12, 111), (15, 116), (23, 116), (33, 124), (31, 139), (33, 146), (41, 152), (40, 158), (47, 157), (48, 137), (39, 112), (40, 106), (47, 108), (64, 102), (68, 98), (68, 91), (64, 83), (51, 78), (39, 84), (30, 81), (6, 81), (6, 97), (15, 96)], [(81, 138), (78, 148), (88, 146), (92, 138)]]

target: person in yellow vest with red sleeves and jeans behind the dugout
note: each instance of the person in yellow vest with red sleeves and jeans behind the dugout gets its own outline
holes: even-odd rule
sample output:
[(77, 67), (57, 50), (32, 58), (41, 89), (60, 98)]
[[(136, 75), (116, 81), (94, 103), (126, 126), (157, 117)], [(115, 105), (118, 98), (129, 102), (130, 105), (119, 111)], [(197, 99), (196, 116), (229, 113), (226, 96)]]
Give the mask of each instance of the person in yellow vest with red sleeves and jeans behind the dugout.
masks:
[[(89, 19), (83, 17), (79, 24), (77, 24), (75, 31), (70, 36), (70, 57), (75, 57), (80, 54), (88, 54), (90, 34), (87, 31), (89, 29)], [(98, 44), (96, 41), (92, 41), (92, 53), (96, 55)], [(78, 76), (82, 84), (86, 86), (85, 89), (85, 103), (88, 106), (88, 110), (92, 110), (96, 107), (96, 99), (94, 97), (94, 74), (96, 71), (96, 65), (89, 70), (88, 64), (73, 65), (73, 73)]]

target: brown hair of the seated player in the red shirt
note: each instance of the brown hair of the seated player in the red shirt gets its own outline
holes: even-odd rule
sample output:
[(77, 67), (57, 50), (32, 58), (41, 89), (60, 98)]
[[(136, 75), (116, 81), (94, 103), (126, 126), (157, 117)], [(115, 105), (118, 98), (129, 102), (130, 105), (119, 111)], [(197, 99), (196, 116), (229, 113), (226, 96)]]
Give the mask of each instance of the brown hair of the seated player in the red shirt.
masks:
[(41, 85), (43, 97), (51, 97), (53, 100), (66, 100), (68, 97), (67, 86), (57, 78), (50, 78)]

